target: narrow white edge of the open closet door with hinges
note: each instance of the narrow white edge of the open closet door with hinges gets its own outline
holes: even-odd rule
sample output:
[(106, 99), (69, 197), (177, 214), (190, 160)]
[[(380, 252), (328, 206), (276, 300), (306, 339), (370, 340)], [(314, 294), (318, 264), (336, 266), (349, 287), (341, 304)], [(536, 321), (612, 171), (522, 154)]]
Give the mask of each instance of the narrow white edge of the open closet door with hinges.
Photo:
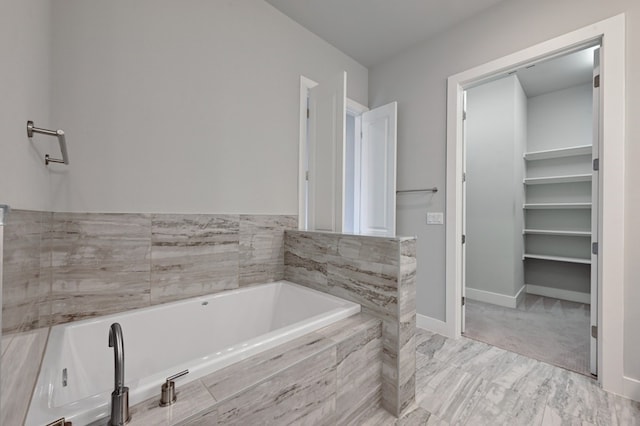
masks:
[[(600, 48), (593, 52), (593, 146), (591, 157), (599, 161), (600, 146)], [(597, 82), (597, 84), (596, 84)], [(594, 163), (595, 164), (595, 163)], [(598, 178), (600, 173), (593, 167), (591, 178), (591, 242), (598, 241)], [(589, 369), (591, 374), (598, 374), (598, 256), (591, 250), (591, 359)]]

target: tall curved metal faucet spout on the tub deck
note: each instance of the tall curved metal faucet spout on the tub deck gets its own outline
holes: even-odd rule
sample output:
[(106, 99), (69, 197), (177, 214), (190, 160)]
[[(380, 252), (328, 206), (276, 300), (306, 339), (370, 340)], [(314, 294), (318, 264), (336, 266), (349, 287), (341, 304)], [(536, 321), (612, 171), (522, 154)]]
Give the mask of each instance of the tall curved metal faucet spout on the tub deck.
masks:
[(122, 426), (129, 422), (129, 388), (124, 385), (124, 339), (119, 323), (109, 328), (109, 347), (113, 348), (114, 390), (111, 393), (111, 419), (109, 425)]

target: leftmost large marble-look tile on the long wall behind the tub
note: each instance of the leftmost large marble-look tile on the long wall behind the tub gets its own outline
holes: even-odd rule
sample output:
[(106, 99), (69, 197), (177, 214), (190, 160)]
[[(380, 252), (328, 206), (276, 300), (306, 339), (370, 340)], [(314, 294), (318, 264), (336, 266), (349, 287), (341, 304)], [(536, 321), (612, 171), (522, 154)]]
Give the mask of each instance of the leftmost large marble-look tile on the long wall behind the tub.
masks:
[(51, 324), (149, 306), (150, 234), (144, 214), (54, 213)]

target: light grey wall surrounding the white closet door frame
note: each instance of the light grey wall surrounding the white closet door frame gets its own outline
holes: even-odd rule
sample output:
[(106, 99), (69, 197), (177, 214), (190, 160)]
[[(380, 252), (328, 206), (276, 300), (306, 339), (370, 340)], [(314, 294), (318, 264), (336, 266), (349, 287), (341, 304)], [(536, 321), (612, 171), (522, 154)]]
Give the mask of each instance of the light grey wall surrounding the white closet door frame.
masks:
[[(626, 12), (625, 374), (640, 380), (640, 2), (512, 0), (369, 70), (370, 106), (398, 101), (398, 188), (445, 184), (446, 79), (536, 43)], [(444, 210), (441, 191), (420, 208)], [(444, 320), (445, 229), (399, 212), (398, 229), (418, 235), (418, 313)]]

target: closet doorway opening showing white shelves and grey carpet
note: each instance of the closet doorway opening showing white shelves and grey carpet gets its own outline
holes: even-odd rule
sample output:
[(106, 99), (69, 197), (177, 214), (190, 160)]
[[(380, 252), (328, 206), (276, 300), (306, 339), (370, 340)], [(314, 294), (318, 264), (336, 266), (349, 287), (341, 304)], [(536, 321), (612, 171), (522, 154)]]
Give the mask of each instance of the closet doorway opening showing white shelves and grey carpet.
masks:
[(463, 332), (595, 376), (599, 46), (497, 77), (465, 90)]

